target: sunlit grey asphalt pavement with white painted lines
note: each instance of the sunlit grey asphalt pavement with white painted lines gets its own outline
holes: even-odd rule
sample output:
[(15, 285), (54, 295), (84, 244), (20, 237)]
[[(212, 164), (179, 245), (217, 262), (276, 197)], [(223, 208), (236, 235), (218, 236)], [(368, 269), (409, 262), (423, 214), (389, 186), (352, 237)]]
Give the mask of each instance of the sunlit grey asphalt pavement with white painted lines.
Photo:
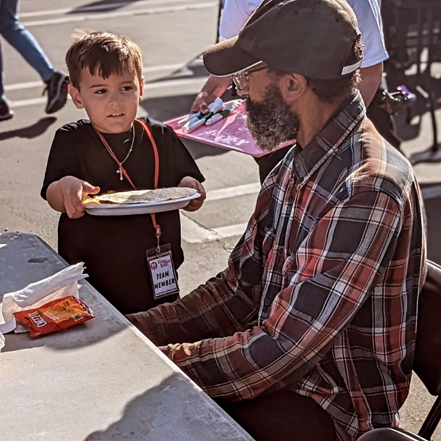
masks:
[[(132, 38), (142, 49), (146, 78), (139, 116), (167, 120), (188, 111), (207, 78), (199, 55), (215, 42), (217, 4), (217, 0), (22, 0), (20, 18), (59, 69), (65, 69), (64, 56), (78, 30)], [(45, 115), (37, 73), (4, 40), (1, 45), (7, 98), (15, 117), (0, 123), (0, 231), (32, 232), (56, 249), (58, 215), (39, 192), (54, 132), (85, 114), (68, 101), (54, 116)], [(431, 145), (430, 117), (424, 112), (424, 104), (418, 104), (410, 125), (404, 123), (404, 115), (397, 119), (404, 152), (413, 160)], [(189, 149), (206, 176), (208, 197), (199, 212), (182, 214), (183, 294), (224, 269), (259, 189), (251, 157), (214, 147), (189, 145)], [(414, 168), (425, 198), (428, 255), (441, 262), (437, 221), (441, 165), (423, 161)], [(414, 376), (401, 426), (417, 430), (433, 401)], [(441, 441), (441, 430), (434, 440)]]

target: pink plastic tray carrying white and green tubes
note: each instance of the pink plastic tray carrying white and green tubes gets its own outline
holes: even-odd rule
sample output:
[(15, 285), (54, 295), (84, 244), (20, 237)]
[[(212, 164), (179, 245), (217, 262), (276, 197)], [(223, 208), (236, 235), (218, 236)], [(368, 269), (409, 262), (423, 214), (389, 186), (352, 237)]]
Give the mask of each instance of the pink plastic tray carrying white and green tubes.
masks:
[[(230, 101), (231, 102), (231, 101)], [(228, 104), (228, 103), (225, 103)], [(245, 125), (245, 104), (233, 110), (227, 118), (212, 124), (211, 126), (201, 126), (190, 133), (184, 133), (178, 129), (177, 123), (185, 117), (179, 116), (170, 121), (165, 121), (181, 138), (191, 139), (211, 146), (221, 147), (222, 149), (234, 150), (235, 152), (245, 153), (254, 157), (261, 157), (267, 152), (263, 152), (256, 146), (254, 138)], [(292, 142), (287, 142), (281, 147), (288, 146)]]

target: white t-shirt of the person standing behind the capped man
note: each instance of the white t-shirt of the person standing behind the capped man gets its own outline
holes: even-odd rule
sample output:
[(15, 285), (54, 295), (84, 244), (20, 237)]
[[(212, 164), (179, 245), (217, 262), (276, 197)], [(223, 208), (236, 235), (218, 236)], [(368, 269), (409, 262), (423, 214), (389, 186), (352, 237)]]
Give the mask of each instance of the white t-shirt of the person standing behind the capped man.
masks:
[[(225, 0), (224, 13), (219, 26), (222, 40), (239, 34), (250, 15), (262, 0)], [(380, 0), (347, 0), (357, 16), (362, 41), (365, 46), (361, 67), (370, 67), (387, 60), (383, 23), (380, 14)]]

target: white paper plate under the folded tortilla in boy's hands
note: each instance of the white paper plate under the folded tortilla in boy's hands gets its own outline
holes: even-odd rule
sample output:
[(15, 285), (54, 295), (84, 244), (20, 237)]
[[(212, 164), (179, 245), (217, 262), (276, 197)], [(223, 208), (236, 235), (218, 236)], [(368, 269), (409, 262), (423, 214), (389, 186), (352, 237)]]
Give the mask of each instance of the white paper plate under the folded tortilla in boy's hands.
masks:
[(179, 210), (186, 207), (192, 199), (197, 199), (199, 193), (186, 198), (173, 199), (164, 202), (144, 202), (142, 204), (93, 205), (86, 211), (94, 216), (127, 216), (129, 214), (161, 213), (163, 211)]

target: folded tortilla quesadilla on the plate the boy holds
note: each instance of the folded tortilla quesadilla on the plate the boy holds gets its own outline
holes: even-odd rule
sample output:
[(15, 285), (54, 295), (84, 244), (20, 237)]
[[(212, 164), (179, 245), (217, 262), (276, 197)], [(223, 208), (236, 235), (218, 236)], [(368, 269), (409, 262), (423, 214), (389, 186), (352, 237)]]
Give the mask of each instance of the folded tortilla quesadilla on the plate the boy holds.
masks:
[(105, 194), (90, 196), (86, 195), (82, 199), (85, 206), (93, 205), (121, 205), (121, 204), (141, 204), (152, 202), (165, 202), (175, 199), (188, 198), (197, 193), (194, 188), (170, 187), (158, 188), (156, 190), (132, 190), (108, 192)]

